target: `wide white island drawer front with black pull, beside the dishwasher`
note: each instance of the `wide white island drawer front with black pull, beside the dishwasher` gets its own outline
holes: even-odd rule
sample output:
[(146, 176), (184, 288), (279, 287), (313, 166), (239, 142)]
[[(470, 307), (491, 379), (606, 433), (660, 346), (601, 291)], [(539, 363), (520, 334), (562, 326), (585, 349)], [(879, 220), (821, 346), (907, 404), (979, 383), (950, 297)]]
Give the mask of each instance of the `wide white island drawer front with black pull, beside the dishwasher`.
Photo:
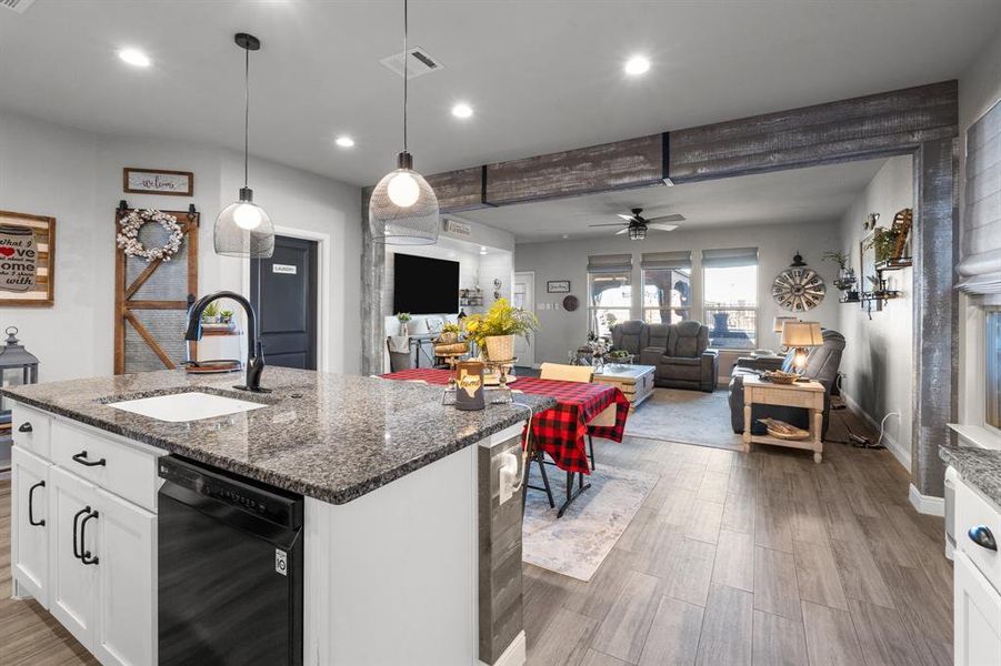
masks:
[(62, 420), (53, 421), (51, 430), (53, 463), (109, 493), (156, 512), (157, 458), (162, 453), (141, 445), (122, 444)]

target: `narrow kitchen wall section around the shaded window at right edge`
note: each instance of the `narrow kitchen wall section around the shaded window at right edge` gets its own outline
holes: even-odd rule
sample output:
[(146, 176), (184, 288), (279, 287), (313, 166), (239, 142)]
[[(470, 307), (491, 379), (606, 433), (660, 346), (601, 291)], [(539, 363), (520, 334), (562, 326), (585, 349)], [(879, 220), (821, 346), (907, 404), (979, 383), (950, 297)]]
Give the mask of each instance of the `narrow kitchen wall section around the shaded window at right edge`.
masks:
[[(959, 78), (960, 211), (964, 210), (965, 132), (1001, 100), (1001, 31), (984, 47)], [(962, 225), (960, 225), (962, 226)], [(984, 418), (983, 310), (960, 294), (959, 315), (959, 420), (982, 425)]]

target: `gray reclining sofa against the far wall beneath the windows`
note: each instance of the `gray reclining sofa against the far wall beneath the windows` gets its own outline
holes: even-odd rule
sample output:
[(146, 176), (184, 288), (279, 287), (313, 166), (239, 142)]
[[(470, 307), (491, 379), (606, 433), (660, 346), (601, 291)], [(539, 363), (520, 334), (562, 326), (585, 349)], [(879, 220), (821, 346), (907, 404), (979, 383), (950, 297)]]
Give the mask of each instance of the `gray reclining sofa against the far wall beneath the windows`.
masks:
[(653, 384), (712, 393), (720, 359), (709, 347), (709, 329), (700, 322), (648, 324), (630, 320), (612, 329), (612, 346), (627, 350), (641, 365), (653, 365)]

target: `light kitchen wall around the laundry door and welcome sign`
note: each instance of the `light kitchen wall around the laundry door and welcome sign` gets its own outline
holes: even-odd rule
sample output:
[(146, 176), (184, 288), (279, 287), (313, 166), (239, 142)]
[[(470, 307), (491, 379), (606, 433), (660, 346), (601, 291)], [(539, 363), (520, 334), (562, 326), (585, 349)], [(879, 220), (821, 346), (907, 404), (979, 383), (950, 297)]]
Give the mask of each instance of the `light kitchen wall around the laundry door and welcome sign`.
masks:
[[(194, 196), (126, 194), (123, 167), (194, 172)], [(250, 167), (254, 199), (276, 224), (331, 234), (330, 370), (358, 372), (361, 193), (358, 188), (266, 160)], [(242, 291), (247, 260), (212, 251), (212, 223), (237, 198), (240, 155), (176, 141), (86, 132), (4, 112), (0, 115), (0, 210), (57, 219), (56, 305), (0, 307), (0, 324), (21, 329), (40, 360), (40, 380), (112, 372), (114, 208), (201, 213), (199, 292)]]

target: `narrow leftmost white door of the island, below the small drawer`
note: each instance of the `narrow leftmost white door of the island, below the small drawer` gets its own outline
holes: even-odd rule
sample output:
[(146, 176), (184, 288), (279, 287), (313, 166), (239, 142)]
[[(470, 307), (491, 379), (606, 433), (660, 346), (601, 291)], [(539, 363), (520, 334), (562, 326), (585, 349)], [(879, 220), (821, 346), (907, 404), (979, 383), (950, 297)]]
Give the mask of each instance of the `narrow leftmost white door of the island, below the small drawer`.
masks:
[(14, 446), (11, 458), (10, 562), (17, 594), (30, 594), (49, 607), (49, 467), (44, 460)]

